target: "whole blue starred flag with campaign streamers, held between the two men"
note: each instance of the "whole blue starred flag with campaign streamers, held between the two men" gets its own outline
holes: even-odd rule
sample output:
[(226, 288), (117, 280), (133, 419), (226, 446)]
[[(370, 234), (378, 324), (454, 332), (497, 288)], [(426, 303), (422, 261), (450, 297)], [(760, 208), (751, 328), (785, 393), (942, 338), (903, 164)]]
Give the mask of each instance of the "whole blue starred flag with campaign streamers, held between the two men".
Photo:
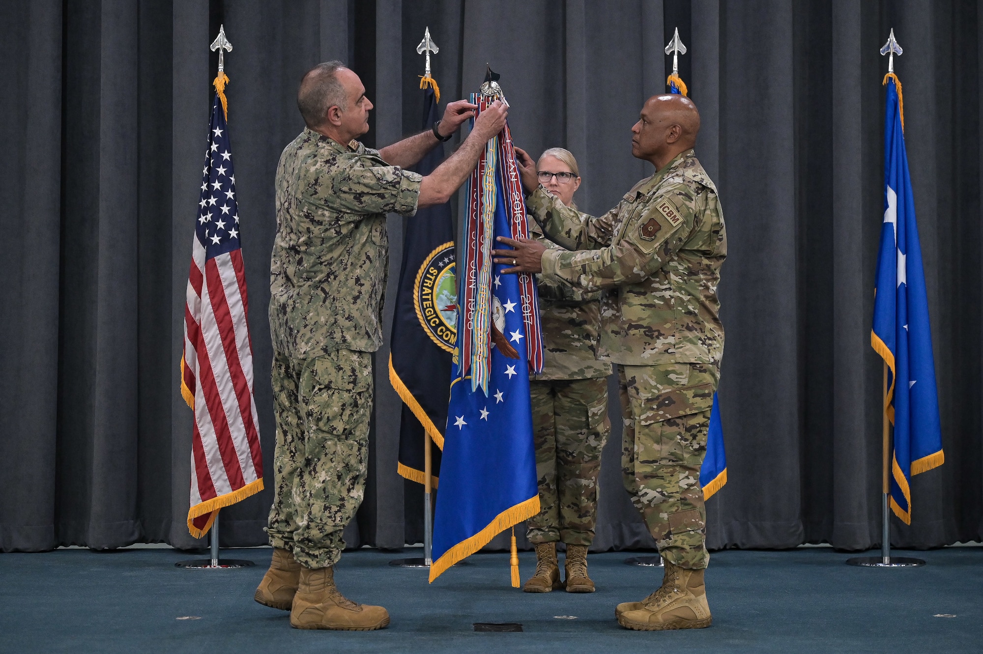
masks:
[[(505, 101), (491, 68), (478, 113)], [(543, 369), (533, 276), (502, 275), (492, 263), (497, 236), (528, 238), (508, 126), (485, 149), (468, 181), (459, 256), (457, 345), (434, 518), (433, 581), (499, 532), (540, 512), (529, 403), (529, 371)], [(519, 586), (512, 533), (512, 586)]]

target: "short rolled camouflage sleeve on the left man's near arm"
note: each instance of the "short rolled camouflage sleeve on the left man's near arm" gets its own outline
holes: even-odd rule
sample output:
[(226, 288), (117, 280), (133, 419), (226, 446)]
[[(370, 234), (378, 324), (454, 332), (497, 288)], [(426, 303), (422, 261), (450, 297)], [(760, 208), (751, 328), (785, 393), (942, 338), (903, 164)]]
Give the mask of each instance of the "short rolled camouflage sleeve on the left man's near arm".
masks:
[(386, 166), (376, 157), (355, 156), (328, 179), (306, 185), (312, 203), (337, 211), (340, 220), (361, 220), (366, 214), (417, 212), (423, 176), (399, 166)]

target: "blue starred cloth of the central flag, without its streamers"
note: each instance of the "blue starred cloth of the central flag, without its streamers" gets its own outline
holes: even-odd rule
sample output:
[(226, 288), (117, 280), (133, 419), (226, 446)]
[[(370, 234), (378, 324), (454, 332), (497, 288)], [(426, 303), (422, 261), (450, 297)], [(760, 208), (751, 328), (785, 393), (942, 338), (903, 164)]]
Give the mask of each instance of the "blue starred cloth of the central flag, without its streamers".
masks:
[[(496, 176), (494, 237), (510, 236), (505, 198)], [(504, 318), (501, 333), (518, 354), (510, 358), (492, 348), (489, 393), (471, 390), (457, 356), (451, 369), (450, 405), (440, 464), (440, 490), (434, 514), (433, 581), (456, 562), (474, 554), (499, 532), (540, 512), (529, 401), (529, 357), (522, 319), (518, 275), (492, 268), (492, 314)], [(458, 311), (457, 333), (466, 311)]]

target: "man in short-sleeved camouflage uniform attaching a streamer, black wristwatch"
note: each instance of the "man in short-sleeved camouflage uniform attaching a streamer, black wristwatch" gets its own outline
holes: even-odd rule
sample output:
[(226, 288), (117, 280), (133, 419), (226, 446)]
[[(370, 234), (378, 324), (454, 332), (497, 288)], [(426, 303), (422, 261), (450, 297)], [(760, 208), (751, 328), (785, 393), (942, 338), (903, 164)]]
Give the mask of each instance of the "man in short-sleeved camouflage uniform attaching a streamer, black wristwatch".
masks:
[(388, 272), (385, 214), (412, 216), (447, 201), (504, 126), (506, 111), (493, 104), (458, 150), (421, 177), (405, 168), (449, 138), (475, 105), (452, 102), (433, 130), (374, 150), (355, 140), (369, 131), (373, 104), (341, 62), (309, 71), (297, 104), (307, 129), (276, 170), (269, 302), (275, 498), (267, 528), (274, 549), (255, 597), (289, 610), (292, 627), (377, 629), (389, 624), (386, 610), (342, 596), (333, 567), (365, 494), (372, 353), (382, 344)]

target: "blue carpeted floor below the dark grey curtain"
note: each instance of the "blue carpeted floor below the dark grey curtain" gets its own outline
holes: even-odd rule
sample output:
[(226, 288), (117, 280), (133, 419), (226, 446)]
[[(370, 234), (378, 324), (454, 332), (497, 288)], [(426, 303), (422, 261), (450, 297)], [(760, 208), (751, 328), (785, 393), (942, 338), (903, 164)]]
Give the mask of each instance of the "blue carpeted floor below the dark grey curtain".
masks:
[[(828, 548), (720, 552), (707, 572), (714, 626), (665, 632), (628, 631), (613, 619), (615, 604), (642, 599), (662, 577), (661, 569), (623, 565), (631, 553), (592, 555), (599, 590), (585, 595), (511, 588), (506, 554), (473, 556), (428, 585), (425, 570), (387, 565), (419, 550), (346, 553), (336, 574), (342, 592), (384, 605), (392, 618), (372, 632), (292, 629), (286, 612), (254, 602), (269, 554), (223, 551), (257, 563), (223, 571), (177, 569), (189, 556), (166, 549), (0, 555), (0, 651), (983, 651), (977, 547), (919, 552), (929, 565), (906, 570), (852, 568)], [(535, 560), (524, 553), (520, 561), (525, 578)], [(524, 630), (476, 633), (477, 622)]]

